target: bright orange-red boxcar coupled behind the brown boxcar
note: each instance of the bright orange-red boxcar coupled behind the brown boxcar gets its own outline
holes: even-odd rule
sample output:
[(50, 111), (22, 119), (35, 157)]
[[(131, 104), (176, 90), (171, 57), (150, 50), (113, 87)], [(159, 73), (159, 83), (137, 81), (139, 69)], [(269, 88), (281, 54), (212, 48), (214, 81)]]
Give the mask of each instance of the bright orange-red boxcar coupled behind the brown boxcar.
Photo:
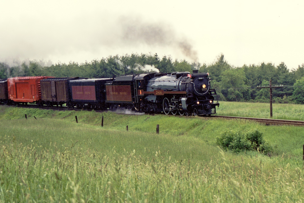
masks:
[(40, 80), (49, 76), (16, 77), (7, 79), (9, 99), (17, 103), (41, 100)]

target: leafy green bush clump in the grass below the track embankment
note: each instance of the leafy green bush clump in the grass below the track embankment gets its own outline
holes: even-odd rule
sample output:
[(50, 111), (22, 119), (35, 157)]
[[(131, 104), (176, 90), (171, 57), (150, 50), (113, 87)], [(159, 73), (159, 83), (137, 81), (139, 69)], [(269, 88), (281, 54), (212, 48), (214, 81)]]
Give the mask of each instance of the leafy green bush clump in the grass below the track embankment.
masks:
[(264, 140), (263, 133), (259, 130), (250, 132), (225, 130), (222, 135), (216, 138), (216, 144), (225, 150), (233, 152), (258, 150), (264, 154), (273, 152), (273, 147)]

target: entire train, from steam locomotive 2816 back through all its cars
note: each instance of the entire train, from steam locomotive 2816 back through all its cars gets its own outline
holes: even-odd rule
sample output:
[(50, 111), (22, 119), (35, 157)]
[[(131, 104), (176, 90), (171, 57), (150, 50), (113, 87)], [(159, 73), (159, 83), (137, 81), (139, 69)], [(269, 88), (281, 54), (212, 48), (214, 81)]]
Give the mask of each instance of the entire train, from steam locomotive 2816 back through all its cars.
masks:
[(172, 72), (84, 79), (48, 76), (0, 80), (0, 103), (110, 109), (146, 113), (211, 115), (215, 89), (208, 73)]

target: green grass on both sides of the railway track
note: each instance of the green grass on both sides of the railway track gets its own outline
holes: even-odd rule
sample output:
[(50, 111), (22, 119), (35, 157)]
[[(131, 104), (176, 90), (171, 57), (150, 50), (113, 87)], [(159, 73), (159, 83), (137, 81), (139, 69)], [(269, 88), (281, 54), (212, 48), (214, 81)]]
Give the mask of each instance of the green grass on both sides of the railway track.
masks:
[[(218, 113), (237, 105), (255, 117), (254, 103), (221, 103)], [(6, 106), (0, 122), (1, 203), (304, 201), (302, 127)], [(216, 137), (227, 128), (258, 129), (276, 151), (222, 151)]]

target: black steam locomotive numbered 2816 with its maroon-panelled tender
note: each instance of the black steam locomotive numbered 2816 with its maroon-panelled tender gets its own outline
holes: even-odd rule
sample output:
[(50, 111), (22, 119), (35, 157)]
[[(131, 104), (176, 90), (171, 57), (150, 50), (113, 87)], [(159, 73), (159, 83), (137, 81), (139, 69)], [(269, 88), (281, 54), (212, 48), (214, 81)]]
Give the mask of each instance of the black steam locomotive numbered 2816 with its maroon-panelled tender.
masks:
[(106, 103), (111, 109), (134, 108), (147, 113), (180, 115), (216, 113), (215, 89), (208, 73), (172, 72), (118, 76), (106, 83)]

